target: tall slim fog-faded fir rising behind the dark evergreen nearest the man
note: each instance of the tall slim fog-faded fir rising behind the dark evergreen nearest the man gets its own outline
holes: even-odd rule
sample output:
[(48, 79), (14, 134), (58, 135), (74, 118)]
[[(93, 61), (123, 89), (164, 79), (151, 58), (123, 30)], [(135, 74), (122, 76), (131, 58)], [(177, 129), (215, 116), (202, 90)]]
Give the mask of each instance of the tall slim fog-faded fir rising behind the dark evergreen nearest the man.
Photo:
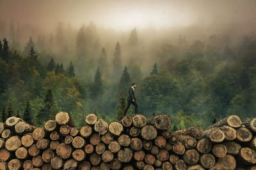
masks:
[(115, 57), (113, 59), (113, 74), (114, 76), (118, 76), (122, 71), (121, 46), (119, 42), (116, 43), (114, 55)]

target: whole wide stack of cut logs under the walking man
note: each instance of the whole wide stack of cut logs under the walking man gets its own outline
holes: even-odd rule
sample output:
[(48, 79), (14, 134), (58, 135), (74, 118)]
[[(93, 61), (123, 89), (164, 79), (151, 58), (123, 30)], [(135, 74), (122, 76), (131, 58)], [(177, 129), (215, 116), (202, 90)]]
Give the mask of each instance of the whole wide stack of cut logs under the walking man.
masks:
[(17, 117), (0, 123), (0, 169), (256, 169), (256, 118), (231, 115), (203, 131), (170, 132), (167, 115), (96, 115), (77, 129), (68, 113), (44, 127)]

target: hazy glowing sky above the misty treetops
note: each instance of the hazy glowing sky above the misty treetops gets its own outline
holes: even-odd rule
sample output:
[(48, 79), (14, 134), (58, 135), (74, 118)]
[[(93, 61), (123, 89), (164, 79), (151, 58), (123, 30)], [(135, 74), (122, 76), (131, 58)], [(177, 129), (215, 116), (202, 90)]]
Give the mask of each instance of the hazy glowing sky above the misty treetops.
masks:
[(177, 1), (67, 1), (0, 0), (0, 18), (20, 24), (52, 29), (58, 22), (74, 27), (88, 24), (130, 30), (132, 27), (255, 24), (254, 0), (177, 0)]

